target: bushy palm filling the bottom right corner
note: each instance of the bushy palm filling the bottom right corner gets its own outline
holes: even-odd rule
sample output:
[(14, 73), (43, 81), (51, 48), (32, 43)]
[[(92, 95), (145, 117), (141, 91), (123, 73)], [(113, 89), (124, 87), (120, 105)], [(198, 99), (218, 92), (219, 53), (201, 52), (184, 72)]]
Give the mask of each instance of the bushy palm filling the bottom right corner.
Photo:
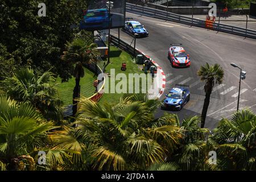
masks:
[(215, 170), (256, 170), (256, 115), (249, 109), (223, 118), (208, 144), (217, 152)]

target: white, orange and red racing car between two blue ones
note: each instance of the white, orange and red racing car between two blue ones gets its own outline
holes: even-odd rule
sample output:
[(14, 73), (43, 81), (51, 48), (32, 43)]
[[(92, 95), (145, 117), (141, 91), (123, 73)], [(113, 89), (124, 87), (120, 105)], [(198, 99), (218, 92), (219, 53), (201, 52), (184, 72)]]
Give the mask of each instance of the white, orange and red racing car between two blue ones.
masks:
[(191, 61), (189, 55), (185, 52), (182, 44), (170, 44), (168, 50), (168, 59), (171, 61), (172, 67), (190, 67)]

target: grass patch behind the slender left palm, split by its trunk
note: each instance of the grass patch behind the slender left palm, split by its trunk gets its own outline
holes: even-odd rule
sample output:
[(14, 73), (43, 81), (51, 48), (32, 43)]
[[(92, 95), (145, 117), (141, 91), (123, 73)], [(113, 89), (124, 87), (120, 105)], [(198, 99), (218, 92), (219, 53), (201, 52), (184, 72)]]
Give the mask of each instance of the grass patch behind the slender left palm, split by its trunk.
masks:
[[(96, 80), (96, 76), (94, 73), (89, 71), (89, 69), (85, 69), (85, 76), (81, 78), (81, 96), (90, 97), (94, 94), (95, 88), (93, 87), (93, 81)], [(72, 105), (72, 97), (73, 97), (73, 89), (75, 87), (75, 78), (72, 77), (68, 80), (68, 82), (61, 82), (61, 78), (58, 77), (56, 82), (59, 83), (59, 94), (60, 99), (63, 100), (64, 105)]]

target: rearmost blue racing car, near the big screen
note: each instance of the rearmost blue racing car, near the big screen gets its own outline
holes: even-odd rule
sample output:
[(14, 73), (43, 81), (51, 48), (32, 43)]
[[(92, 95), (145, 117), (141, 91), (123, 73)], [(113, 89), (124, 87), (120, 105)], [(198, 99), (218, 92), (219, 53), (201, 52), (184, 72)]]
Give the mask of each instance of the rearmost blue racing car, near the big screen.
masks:
[(123, 30), (133, 35), (137, 34), (137, 37), (148, 36), (148, 31), (146, 30), (146, 28), (144, 28), (141, 23), (133, 20), (126, 21)]

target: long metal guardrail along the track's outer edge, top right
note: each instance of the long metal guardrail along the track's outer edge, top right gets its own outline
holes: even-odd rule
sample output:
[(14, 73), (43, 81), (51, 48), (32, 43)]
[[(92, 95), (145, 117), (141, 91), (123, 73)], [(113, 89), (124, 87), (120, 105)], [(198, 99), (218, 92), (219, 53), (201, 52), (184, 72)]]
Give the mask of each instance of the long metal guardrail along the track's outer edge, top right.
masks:
[[(205, 20), (203, 19), (191, 18), (184, 15), (169, 13), (167, 11), (152, 9), (150, 7), (134, 5), (131, 3), (126, 3), (126, 11), (130, 13), (139, 14), (139, 15), (150, 16), (152, 18), (158, 18), (158, 19), (168, 20), (172, 22), (188, 24), (191, 26), (207, 28), (205, 26)], [(212, 30), (226, 32), (234, 35), (245, 36), (246, 38), (256, 39), (256, 30), (232, 26), (224, 23), (213, 23)]]

